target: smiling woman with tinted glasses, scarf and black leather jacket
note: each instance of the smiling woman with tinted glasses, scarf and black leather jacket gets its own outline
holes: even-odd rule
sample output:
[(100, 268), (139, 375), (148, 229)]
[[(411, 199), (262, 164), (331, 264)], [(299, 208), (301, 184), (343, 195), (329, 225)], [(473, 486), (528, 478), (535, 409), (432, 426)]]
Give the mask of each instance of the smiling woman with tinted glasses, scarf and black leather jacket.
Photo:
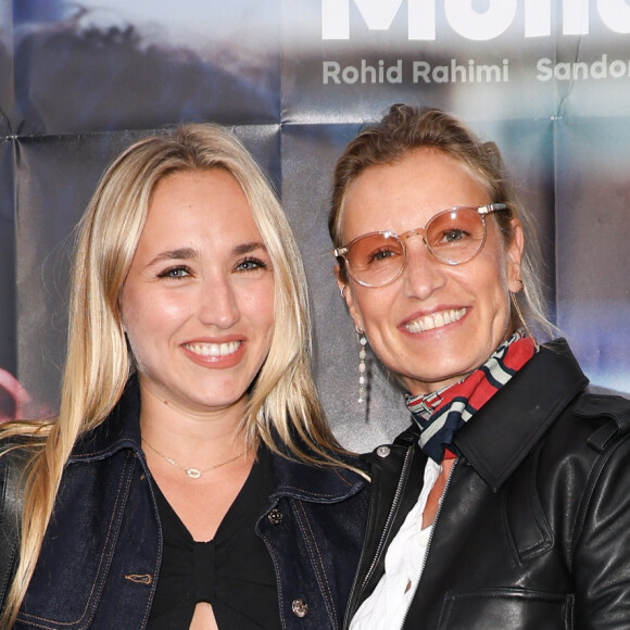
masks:
[(412, 427), (373, 462), (352, 630), (630, 627), (630, 403), (547, 333), (493, 143), (393, 105), (340, 158), (329, 229)]

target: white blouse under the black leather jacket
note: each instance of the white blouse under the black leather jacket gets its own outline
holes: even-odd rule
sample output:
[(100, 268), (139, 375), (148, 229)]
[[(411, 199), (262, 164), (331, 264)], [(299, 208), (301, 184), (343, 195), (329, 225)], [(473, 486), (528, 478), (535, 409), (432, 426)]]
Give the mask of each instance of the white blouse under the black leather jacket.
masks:
[(441, 472), (440, 464), (427, 459), (420, 496), (391, 541), (385, 555), (385, 575), (352, 618), (350, 630), (391, 630), (402, 627), (423, 575), (433, 530), (432, 525), (423, 529), (423, 515), (429, 493)]

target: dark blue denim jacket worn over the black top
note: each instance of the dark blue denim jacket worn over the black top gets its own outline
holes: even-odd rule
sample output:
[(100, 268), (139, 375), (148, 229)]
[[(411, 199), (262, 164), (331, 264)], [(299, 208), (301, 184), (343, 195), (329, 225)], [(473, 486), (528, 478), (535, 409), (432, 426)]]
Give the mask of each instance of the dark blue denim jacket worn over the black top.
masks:
[[(162, 530), (139, 413), (131, 381), (74, 450), (15, 628), (144, 628)], [(256, 533), (276, 568), (281, 627), (340, 628), (364, 537), (366, 482), (276, 455), (273, 466), (275, 490)]]

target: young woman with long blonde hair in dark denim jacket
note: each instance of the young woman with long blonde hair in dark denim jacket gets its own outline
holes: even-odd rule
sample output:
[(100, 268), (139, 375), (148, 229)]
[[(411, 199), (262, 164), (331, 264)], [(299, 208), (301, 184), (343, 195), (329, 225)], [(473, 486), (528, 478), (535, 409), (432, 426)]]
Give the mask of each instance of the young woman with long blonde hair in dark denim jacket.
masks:
[(114, 161), (70, 308), (59, 416), (0, 431), (26, 459), (2, 626), (339, 627), (365, 482), (314, 389), (294, 238), (231, 134)]

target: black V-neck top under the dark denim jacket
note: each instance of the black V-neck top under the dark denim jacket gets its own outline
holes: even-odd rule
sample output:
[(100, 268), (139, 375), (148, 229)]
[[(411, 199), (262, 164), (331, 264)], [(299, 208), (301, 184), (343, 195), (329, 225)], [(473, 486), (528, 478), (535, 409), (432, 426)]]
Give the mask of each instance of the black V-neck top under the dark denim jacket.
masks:
[(265, 446), (210, 542), (196, 542), (155, 488), (164, 554), (147, 630), (188, 630), (209, 602), (222, 630), (280, 627), (276, 574), (255, 524), (268, 507), (272, 459)]

